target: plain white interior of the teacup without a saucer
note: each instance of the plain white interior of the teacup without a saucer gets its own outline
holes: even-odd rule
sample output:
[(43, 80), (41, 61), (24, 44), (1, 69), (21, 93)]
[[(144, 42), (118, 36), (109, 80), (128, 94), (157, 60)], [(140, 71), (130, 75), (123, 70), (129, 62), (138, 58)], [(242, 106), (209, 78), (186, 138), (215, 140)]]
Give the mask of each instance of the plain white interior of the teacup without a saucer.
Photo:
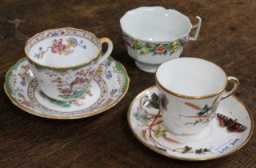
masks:
[(122, 30), (133, 38), (149, 42), (170, 42), (186, 36), (190, 19), (177, 10), (163, 7), (140, 7), (128, 11), (121, 19)]

